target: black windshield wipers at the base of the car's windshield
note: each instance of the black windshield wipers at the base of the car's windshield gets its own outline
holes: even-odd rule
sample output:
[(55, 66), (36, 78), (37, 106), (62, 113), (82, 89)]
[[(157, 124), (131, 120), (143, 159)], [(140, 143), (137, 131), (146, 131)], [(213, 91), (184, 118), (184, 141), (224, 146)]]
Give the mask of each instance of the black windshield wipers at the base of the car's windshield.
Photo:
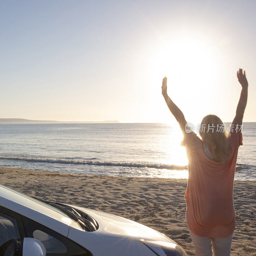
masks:
[(71, 219), (75, 220), (80, 224), (80, 226), (87, 231), (95, 231), (99, 228), (98, 223), (87, 213), (82, 212), (78, 209), (75, 209), (67, 204), (62, 204), (58, 202), (51, 202), (46, 201), (41, 198), (37, 198), (32, 196), (33, 198), (44, 202), (45, 204), (49, 204), (57, 209), (61, 210), (62, 212), (66, 213)]

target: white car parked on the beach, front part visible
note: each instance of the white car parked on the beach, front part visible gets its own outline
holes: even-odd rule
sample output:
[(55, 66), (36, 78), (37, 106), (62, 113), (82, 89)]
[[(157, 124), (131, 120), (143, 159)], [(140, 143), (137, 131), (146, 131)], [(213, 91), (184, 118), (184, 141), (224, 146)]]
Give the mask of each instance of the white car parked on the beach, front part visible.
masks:
[(109, 213), (0, 185), (0, 256), (186, 256), (167, 236)]

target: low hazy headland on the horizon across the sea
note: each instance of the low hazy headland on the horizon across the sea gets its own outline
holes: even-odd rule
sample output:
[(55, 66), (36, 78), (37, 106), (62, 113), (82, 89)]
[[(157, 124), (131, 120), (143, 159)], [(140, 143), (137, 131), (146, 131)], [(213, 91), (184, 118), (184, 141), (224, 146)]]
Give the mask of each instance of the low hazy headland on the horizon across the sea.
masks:
[(52, 120), (29, 120), (23, 118), (0, 118), (0, 124), (103, 124), (120, 123), (117, 120), (106, 121), (52, 121)]

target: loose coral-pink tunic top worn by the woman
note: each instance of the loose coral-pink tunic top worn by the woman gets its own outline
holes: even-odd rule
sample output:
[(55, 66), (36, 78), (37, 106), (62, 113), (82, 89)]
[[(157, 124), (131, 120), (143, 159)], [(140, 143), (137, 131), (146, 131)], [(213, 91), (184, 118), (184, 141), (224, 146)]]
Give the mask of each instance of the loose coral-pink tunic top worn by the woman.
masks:
[(236, 226), (233, 185), (237, 152), (242, 143), (241, 132), (230, 132), (230, 156), (221, 164), (208, 158), (203, 141), (191, 132), (182, 145), (188, 156), (186, 218), (188, 227), (197, 236), (224, 238)]

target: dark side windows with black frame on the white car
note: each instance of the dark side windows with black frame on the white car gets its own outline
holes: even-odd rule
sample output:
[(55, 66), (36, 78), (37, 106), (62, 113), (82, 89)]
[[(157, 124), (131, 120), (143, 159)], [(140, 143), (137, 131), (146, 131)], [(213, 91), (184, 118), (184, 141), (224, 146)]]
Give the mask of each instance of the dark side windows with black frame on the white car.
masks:
[(0, 256), (20, 256), (22, 238), (44, 244), (46, 256), (92, 256), (92, 253), (44, 225), (0, 206)]

